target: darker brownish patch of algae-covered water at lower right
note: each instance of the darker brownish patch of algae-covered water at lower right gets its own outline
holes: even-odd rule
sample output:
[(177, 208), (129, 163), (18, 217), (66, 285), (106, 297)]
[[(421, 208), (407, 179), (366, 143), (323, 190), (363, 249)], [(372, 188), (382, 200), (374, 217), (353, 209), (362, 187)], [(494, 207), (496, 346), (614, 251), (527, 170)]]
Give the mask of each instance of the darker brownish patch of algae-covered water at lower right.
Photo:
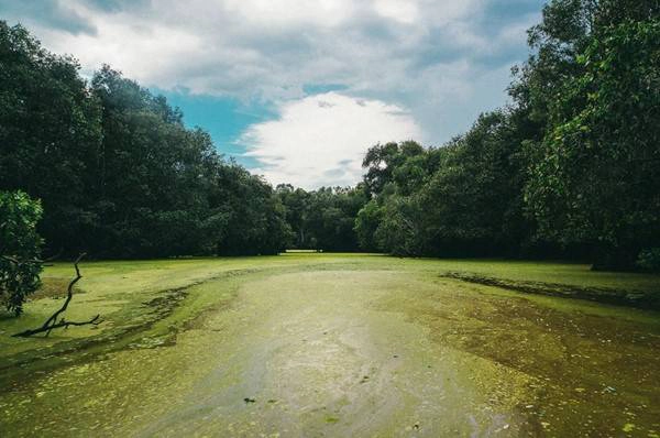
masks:
[[(404, 311), (436, 342), (525, 373), (537, 434), (616, 436), (635, 418), (646, 436), (660, 418), (660, 324), (657, 314), (446, 281), (427, 282), (385, 308)], [(645, 434), (645, 435), (642, 435)]]

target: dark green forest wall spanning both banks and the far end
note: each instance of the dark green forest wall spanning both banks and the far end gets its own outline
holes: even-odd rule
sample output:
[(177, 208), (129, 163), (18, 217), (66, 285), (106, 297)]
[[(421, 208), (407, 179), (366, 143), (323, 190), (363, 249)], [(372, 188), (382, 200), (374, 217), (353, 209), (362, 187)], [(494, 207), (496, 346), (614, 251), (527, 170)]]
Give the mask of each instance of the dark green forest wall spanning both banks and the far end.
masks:
[(660, 3), (553, 0), (510, 103), (438, 147), (374, 145), (354, 188), (270, 186), (106, 66), (90, 80), (0, 22), (0, 190), (45, 252), (571, 258), (660, 265)]

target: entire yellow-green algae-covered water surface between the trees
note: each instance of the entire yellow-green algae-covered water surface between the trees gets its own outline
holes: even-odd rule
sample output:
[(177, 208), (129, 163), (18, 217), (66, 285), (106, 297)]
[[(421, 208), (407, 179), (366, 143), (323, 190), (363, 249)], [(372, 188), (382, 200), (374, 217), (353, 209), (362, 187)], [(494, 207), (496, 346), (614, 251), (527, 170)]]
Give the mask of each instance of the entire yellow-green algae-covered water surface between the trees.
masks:
[(98, 328), (11, 338), (58, 307), (52, 292), (0, 319), (2, 436), (660, 430), (659, 314), (446, 274), (647, 294), (658, 276), (306, 253), (81, 270), (67, 318), (100, 313)]

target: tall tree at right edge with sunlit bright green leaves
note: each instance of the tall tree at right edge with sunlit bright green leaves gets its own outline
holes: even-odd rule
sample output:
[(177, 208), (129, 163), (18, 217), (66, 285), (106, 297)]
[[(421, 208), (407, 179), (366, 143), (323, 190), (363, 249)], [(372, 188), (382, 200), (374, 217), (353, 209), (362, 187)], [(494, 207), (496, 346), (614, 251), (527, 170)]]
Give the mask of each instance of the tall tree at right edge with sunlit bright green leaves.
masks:
[(552, 106), (526, 195), (546, 236), (591, 242), (597, 264), (630, 267), (660, 245), (660, 22), (607, 28)]

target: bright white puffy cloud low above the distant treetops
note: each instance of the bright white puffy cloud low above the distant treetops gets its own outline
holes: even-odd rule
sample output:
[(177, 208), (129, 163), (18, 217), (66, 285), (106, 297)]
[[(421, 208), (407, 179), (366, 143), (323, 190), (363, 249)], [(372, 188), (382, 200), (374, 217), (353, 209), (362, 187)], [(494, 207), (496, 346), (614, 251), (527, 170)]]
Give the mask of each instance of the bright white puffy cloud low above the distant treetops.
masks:
[(397, 106), (327, 92), (282, 105), (277, 120), (253, 125), (241, 141), (271, 183), (316, 188), (354, 185), (370, 146), (420, 136)]

